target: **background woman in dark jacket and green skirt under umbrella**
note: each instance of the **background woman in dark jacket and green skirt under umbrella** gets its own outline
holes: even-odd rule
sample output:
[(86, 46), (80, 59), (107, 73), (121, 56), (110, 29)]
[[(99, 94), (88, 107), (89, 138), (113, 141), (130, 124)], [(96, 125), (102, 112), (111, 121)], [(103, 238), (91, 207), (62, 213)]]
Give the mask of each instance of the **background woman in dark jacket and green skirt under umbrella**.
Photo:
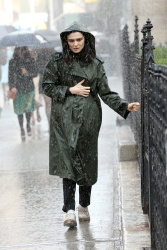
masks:
[(27, 135), (31, 136), (31, 112), (35, 110), (33, 77), (37, 76), (35, 60), (30, 56), (28, 47), (16, 47), (9, 61), (9, 89), (16, 94), (13, 101), (14, 112), (18, 116), (22, 141), (25, 141), (23, 114), (27, 120)]

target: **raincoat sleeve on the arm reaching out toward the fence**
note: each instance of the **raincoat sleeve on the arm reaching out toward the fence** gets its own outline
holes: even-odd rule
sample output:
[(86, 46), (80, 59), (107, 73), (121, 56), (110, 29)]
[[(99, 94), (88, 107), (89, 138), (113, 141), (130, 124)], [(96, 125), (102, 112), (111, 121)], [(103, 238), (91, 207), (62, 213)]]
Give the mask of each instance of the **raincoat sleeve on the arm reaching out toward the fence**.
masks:
[(118, 93), (110, 90), (108, 85), (108, 79), (104, 70), (102, 63), (98, 65), (98, 82), (97, 82), (97, 92), (105, 104), (112, 108), (124, 119), (128, 117), (130, 113), (127, 110), (128, 102), (118, 95)]

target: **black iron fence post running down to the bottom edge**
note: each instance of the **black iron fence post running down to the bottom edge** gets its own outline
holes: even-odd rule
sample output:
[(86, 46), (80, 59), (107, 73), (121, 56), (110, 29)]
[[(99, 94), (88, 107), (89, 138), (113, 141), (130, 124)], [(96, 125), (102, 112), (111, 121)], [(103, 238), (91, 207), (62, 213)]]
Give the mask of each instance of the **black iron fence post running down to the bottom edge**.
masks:
[[(154, 39), (153, 36), (151, 35), (151, 29), (153, 28), (153, 25), (150, 21), (150, 19), (147, 19), (146, 21), (146, 30), (147, 30), (147, 45), (146, 45), (146, 88), (147, 88), (147, 93), (148, 93), (148, 97), (147, 97), (147, 111), (148, 111), (148, 128), (146, 128), (148, 130), (148, 183), (149, 183), (149, 220), (150, 220), (150, 230), (151, 230), (151, 247), (154, 249), (156, 247), (156, 241), (157, 239), (155, 239), (155, 237), (158, 235), (158, 231), (157, 228), (158, 227), (158, 223), (157, 221), (160, 219), (158, 218), (160, 215), (154, 214), (155, 213), (155, 207), (152, 203), (155, 202), (156, 198), (154, 197), (154, 195), (156, 195), (156, 192), (154, 192), (154, 185), (153, 185), (153, 180), (152, 178), (158, 178), (156, 176), (155, 170), (153, 170), (153, 165), (156, 166), (157, 162), (155, 163), (155, 158), (154, 158), (154, 150), (153, 150), (153, 136), (152, 133), (156, 133), (156, 131), (153, 130), (153, 126), (158, 126), (157, 120), (159, 118), (157, 118), (157, 120), (153, 122), (153, 112), (157, 112), (158, 115), (158, 110), (156, 109), (157, 105), (158, 105), (158, 93), (155, 96), (155, 91), (159, 90), (159, 87), (156, 85), (157, 81), (159, 80), (159, 75), (161, 75), (161, 68), (157, 67), (157, 65), (155, 64), (155, 58), (154, 58), (154, 54), (153, 54), (153, 50), (155, 49), (155, 47), (152, 45), (152, 40)], [(152, 66), (151, 66), (152, 65)], [(154, 75), (154, 77), (152, 77), (152, 75)], [(151, 76), (151, 78), (150, 78)], [(156, 98), (158, 98), (156, 100)], [(153, 105), (153, 103), (155, 102), (155, 104)], [(154, 124), (154, 125), (153, 125)], [(155, 125), (156, 124), (156, 125)], [(157, 134), (156, 134), (157, 136)], [(155, 144), (154, 144), (155, 146)], [(157, 152), (156, 152), (157, 153)], [(154, 158), (154, 162), (153, 162), (153, 158)], [(158, 163), (159, 164), (159, 163)], [(155, 184), (156, 185), (156, 184)], [(155, 200), (154, 200), (155, 199)], [(158, 211), (159, 212), (159, 211)], [(154, 218), (155, 216), (155, 218)]]

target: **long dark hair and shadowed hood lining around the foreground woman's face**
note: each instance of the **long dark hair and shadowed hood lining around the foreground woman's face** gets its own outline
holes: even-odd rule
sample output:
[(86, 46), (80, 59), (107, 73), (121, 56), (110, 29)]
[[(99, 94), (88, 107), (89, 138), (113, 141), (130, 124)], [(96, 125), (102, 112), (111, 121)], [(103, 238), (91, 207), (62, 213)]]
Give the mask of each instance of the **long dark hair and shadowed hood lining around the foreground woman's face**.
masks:
[(79, 53), (74, 53), (70, 50), (68, 42), (67, 42), (67, 36), (70, 35), (73, 32), (77, 31), (72, 31), (69, 33), (65, 33), (62, 37), (62, 46), (63, 46), (63, 55), (64, 55), (64, 60), (67, 63), (69, 67), (72, 66), (73, 60), (75, 58), (77, 59), (84, 59), (86, 62), (91, 63), (95, 59), (95, 54), (93, 53), (91, 47), (90, 47), (90, 37), (87, 35), (87, 33), (83, 33), (79, 31), (80, 33), (83, 34), (85, 38), (85, 45), (84, 48), (81, 50)]

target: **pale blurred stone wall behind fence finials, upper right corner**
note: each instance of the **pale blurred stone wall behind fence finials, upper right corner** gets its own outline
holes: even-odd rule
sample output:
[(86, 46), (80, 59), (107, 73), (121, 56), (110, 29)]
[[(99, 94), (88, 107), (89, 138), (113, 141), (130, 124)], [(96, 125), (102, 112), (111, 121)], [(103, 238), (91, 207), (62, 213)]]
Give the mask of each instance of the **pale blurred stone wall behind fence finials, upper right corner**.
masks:
[[(134, 17), (137, 15), (139, 18), (139, 31), (143, 24), (146, 23), (147, 18), (150, 18), (153, 24), (154, 44), (167, 46), (167, 0), (127, 0), (126, 10), (131, 42), (134, 40)], [(141, 40), (142, 34), (139, 33)]]

